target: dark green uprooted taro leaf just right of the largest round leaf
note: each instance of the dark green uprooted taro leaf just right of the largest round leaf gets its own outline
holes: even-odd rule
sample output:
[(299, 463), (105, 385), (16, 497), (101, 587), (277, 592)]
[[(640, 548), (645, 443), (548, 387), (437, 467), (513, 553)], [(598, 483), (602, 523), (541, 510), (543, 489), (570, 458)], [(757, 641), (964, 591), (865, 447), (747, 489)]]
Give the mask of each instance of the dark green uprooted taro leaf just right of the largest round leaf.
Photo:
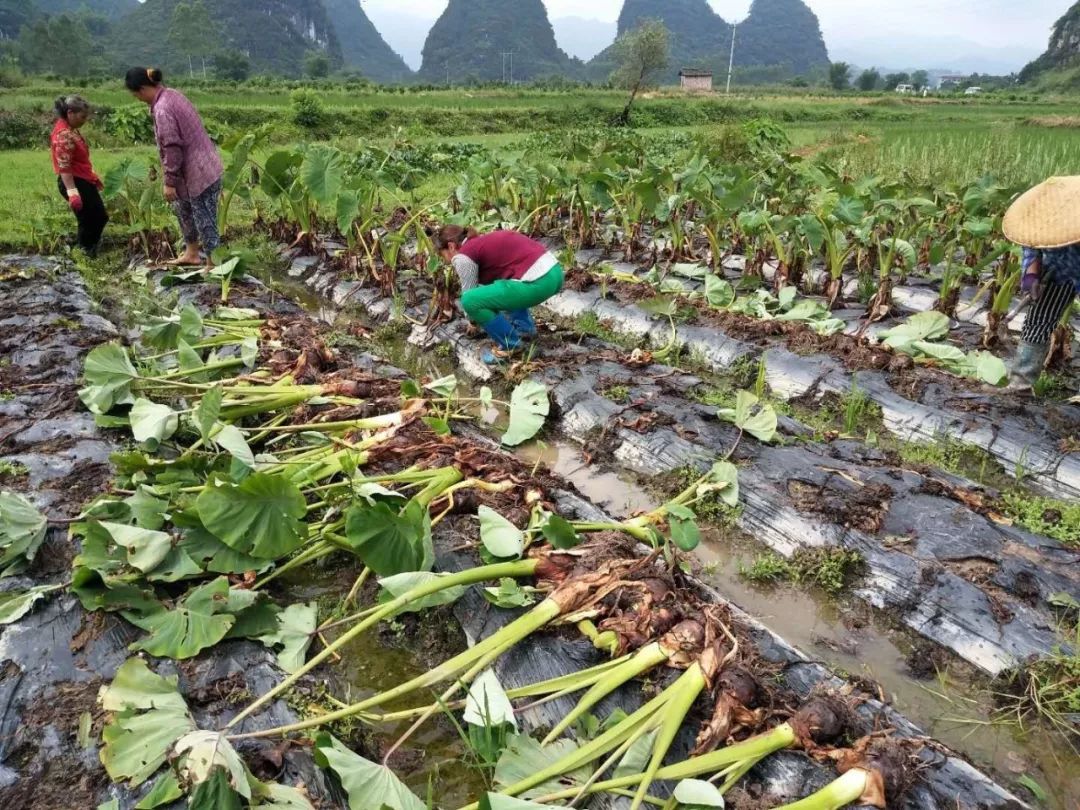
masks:
[(362, 503), (346, 514), (348, 549), (380, 577), (427, 571), (435, 562), (431, 514), (417, 501), (400, 512), (384, 502)]

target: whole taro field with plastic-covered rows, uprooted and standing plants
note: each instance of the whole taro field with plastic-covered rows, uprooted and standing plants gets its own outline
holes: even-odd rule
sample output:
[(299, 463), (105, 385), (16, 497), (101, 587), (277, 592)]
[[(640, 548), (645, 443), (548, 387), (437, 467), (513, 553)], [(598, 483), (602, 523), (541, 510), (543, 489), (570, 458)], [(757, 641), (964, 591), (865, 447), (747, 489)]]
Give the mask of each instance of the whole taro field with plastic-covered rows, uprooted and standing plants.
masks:
[[(103, 146), (97, 258), (26, 192), (0, 262), (4, 807), (1077, 807), (1078, 319), (1007, 388), (1001, 234), (1077, 141), (1016, 158), (1041, 108), (931, 137), (753, 104), (235, 127), (208, 272), (163, 269), (151, 150)], [(567, 270), (503, 362), (457, 311), (445, 222)]]

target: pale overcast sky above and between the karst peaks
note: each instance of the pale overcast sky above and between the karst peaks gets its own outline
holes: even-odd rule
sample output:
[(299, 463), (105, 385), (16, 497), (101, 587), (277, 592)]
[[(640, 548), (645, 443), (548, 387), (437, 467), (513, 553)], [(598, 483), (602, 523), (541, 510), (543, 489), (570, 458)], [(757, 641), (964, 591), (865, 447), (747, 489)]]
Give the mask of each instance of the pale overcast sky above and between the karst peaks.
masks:
[[(544, 3), (552, 17), (616, 19), (622, 8), (622, 0)], [(746, 15), (751, 0), (710, 3), (725, 19), (734, 21)], [(1016, 68), (1045, 50), (1051, 26), (1070, 4), (1071, 0), (809, 0), (821, 19), (825, 44), (840, 58), (858, 54), (866, 60), (881, 51), (877, 64), (899, 66), (905, 57), (913, 57), (914, 40), (923, 40), (926, 45), (927, 41), (948, 38), (994, 50), (999, 59), (1014, 63)], [(376, 18), (405, 13), (434, 21), (446, 8), (446, 0), (362, 0), (362, 5)], [(966, 49), (966, 54), (970, 51)], [(937, 56), (926, 48), (918, 53), (919, 58)], [(936, 65), (928, 67), (947, 67), (956, 56), (941, 53)]]

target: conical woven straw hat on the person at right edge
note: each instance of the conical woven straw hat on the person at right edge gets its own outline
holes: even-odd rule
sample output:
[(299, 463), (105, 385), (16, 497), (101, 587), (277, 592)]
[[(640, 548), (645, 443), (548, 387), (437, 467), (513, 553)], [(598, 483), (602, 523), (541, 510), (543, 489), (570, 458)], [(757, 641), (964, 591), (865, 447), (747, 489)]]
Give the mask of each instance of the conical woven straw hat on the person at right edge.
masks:
[(1080, 177), (1051, 177), (1021, 194), (1005, 212), (1005, 237), (1050, 249), (1080, 242)]

